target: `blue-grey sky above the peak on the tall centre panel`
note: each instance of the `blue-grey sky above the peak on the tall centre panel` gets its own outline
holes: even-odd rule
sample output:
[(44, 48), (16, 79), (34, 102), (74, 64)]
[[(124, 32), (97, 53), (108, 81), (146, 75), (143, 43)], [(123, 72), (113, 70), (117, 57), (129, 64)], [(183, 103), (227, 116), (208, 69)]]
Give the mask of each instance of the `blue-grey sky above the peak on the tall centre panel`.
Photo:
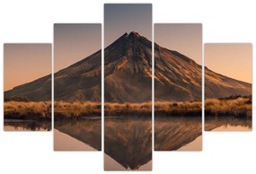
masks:
[(152, 4), (104, 4), (105, 48), (131, 31), (152, 40)]

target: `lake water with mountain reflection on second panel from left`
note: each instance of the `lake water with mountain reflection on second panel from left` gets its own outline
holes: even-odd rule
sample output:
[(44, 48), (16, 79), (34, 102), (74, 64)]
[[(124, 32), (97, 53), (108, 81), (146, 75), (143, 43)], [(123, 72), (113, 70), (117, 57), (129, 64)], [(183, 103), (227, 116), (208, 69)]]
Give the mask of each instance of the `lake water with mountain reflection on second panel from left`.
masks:
[(56, 151), (101, 151), (102, 119), (57, 120), (54, 123)]

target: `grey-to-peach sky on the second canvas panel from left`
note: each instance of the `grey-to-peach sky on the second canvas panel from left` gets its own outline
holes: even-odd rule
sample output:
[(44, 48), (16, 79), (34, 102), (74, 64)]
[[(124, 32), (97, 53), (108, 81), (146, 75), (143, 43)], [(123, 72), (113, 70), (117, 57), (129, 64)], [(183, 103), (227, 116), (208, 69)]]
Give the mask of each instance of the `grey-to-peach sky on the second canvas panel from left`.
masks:
[(102, 24), (54, 24), (54, 72), (84, 59), (102, 48)]

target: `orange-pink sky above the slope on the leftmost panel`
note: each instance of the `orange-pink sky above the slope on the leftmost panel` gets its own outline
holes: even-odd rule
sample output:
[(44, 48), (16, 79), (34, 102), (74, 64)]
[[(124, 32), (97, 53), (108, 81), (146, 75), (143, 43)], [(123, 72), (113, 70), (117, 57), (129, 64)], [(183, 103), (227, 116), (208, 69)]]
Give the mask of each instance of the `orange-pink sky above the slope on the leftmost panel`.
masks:
[(51, 74), (51, 44), (4, 44), (4, 91)]

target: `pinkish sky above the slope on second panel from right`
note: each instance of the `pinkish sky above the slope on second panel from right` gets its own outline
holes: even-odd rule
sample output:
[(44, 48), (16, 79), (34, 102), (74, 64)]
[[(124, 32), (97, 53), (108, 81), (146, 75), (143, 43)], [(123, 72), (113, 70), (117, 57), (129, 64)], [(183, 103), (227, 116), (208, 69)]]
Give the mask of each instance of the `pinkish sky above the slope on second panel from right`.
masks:
[(154, 42), (163, 48), (176, 50), (202, 65), (202, 24), (156, 23)]

